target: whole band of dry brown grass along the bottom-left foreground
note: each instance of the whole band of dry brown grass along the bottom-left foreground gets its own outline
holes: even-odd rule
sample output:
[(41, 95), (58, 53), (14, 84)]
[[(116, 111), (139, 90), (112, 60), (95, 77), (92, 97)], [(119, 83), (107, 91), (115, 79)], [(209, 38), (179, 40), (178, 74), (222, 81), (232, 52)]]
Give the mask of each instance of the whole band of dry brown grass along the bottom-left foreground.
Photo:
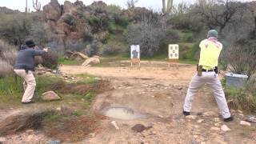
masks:
[(22, 133), (25, 130), (42, 130), (51, 138), (62, 142), (79, 142), (99, 128), (101, 117), (75, 116), (74, 111), (43, 111), (12, 115), (0, 123), (0, 137)]

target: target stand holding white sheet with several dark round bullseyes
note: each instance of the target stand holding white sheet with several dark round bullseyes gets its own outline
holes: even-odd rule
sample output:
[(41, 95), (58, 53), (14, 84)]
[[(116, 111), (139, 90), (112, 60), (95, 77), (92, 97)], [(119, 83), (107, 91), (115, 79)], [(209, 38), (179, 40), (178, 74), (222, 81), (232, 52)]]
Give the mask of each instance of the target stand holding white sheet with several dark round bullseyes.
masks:
[(168, 67), (174, 66), (178, 68), (178, 45), (172, 44), (168, 47)]

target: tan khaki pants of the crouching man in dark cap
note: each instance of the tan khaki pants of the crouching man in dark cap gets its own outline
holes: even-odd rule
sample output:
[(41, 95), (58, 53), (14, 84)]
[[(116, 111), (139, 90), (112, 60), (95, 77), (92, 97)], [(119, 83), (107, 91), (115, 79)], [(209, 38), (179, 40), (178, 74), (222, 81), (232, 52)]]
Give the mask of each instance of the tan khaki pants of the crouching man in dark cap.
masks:
[(30, 70), (28, 71), (28, 74), (26, 74), (25, 70), (14, 70), (14, 72), (24, 79), (23, 88), (25, 92), (23, 94), (22, 102), (30, 102), (33, 98), (36, 86), (34, 74)]

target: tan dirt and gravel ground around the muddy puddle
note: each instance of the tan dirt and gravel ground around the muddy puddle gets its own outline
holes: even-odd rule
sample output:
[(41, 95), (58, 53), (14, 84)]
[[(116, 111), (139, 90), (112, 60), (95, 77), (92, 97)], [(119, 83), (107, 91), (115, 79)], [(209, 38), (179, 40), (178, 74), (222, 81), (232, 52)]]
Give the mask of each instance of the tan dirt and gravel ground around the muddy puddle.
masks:
[[(140, 70), (138, 67), (130, 68), (127, 63), (108, 67), (61, 66), (60, 70), (65, 74), (92, 74), (110, 80), (114, 89), (99, 94), (90, 108), (91, 112), (101, 113), (107, 107), (122, 106), (147, 116), (134, 120), (104, 118), (100, 130), (75, 143), (256, 143), (256, 125), (241, 126), (239, 123), (246, 114), (238, 110), (231, 110), (235, 116), (234, 122), (222, 122), (213, 94), (206, 87), (194, 99), (194, 118), (182, 115), (186, 90), (195, 73), (193, 65), (168, 67), (165, 62), (144, 62)], [(10, 111), (13, 110), (0, 110), (0, 114)], [(113, 121), (119, 130), (111, 124)], [(131, 130), (136, 124), (152, 128), (138, 133)], [(228, 126), (230, 131), (222, 131), (222, 125)], [(33, 138), (27, 141), (28, 136)], [(6, 143), (38, 143), (50, 139), (33, 131), (32, 134), (6, 137)]]

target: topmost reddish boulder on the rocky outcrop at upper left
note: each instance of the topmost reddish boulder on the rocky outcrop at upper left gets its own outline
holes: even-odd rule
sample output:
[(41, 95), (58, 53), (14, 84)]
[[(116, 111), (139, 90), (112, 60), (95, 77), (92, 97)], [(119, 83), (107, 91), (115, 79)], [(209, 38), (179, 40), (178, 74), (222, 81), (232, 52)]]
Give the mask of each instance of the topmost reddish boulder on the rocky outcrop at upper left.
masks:
[(50, 0), (50, 3), (42, 8), (46, 21), (57, 22), (58, 18), (62, 15), (62, 7), (58, 3), (58, 0)]

